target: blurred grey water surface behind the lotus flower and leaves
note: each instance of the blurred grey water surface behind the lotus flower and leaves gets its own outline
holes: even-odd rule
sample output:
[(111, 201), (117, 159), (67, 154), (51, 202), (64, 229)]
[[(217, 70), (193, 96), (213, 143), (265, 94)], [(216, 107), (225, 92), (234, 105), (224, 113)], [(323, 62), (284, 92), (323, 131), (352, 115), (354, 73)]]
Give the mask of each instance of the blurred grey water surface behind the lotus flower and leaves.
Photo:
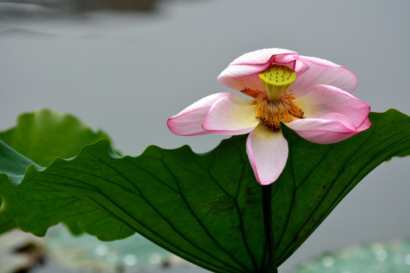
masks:
[[(268, 47), (346, 66), (358, 78), (354, 95), (372, 111), (409, 114), (409, 11), (408, 0), (0, 0), (0, 130), (22, 112), (50, 108), (103, 129), (122, 154), (150, 144), (204, 152), (223, 137), (176, 136), (166, 119), (208, 94), (230, 92), (217, 75), (237, 56)], [(373, 170), (279, 272), (340, 247), (410, 237), (409, 165), (409, 157), (393, 158)], [(12, 236), (0, 237), (0, 253), (10, 240), (35, 240)], [(111, 248), (92, 243), (84, 244), (94, 257), (114, 263)], [(52, 237), (47, 245), (57, 252)], [(144, 247), (157, 255), (146, 257), (156, 267), (143, 270), (206, 272)], [(129, 253), (115, 255), (134, 265)], [(79, 272), (61, 266), (48, 261), (32, 272)]]

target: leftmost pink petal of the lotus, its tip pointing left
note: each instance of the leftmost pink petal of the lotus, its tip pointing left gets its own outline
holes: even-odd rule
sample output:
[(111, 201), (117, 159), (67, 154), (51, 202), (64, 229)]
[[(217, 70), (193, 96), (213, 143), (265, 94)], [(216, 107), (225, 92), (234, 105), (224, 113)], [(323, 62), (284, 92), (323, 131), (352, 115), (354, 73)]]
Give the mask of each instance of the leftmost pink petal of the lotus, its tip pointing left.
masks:
[(229, 97), (233, 93), (216, 93), (205, 96), (189, 105), (178, 114), (168, 118), (166, 125), (169, 130), (178, 135), (200, 135), (210, 133), (202, 128), (203, 120), (213, 102), (221, 97)]

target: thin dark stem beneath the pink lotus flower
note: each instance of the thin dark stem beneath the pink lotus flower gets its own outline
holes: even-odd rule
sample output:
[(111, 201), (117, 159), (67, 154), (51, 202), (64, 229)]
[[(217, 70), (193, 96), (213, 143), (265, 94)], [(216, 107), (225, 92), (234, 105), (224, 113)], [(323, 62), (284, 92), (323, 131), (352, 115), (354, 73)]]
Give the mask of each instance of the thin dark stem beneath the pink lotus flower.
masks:
[(277, 273), (276, 246), (272, 227), (272, 184), (262, 186), (263, 224), (267, 243), (268, 273)]

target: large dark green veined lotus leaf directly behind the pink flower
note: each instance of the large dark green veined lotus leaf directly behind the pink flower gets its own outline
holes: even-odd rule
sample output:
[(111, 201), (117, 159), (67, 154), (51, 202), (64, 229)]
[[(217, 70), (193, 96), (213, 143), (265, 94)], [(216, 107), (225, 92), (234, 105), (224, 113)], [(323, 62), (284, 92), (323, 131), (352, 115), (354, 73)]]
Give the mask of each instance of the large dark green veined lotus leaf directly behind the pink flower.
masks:
[[(396, 110), (370, 113), (372, 127), (320, 145), (283, 128), (289, 156), (272, 184), (272, 226), (278, 263), (307, 238), (371, 169), (410, 154), (410, 118)], [(62, 220), (102, 240), (134, 231), (215, 272), (266, 272), (261, 186), (245, 150), (246, 135), (206, 154), (188, 146), (149, 146), (119, 157), (107, 140), (70, 160), (30, 165), (21, 183), (0, 166), (1, 213), (36, 235)], [(14, 151), (0, 147), (0, 157)], [(24, 163), (16, 161), (23, 169)]]

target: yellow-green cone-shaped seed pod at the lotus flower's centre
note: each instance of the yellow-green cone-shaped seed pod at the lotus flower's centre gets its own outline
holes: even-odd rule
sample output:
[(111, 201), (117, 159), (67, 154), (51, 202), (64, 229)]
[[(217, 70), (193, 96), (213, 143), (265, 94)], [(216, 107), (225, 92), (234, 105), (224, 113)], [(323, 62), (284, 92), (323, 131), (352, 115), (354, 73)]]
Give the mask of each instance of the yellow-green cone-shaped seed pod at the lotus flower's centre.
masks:
[(273, 64), (260, 72), (259, 78), (265, 87), (267, 99), (278, 101), (296, 79), (296, 73), (286, 65)]

